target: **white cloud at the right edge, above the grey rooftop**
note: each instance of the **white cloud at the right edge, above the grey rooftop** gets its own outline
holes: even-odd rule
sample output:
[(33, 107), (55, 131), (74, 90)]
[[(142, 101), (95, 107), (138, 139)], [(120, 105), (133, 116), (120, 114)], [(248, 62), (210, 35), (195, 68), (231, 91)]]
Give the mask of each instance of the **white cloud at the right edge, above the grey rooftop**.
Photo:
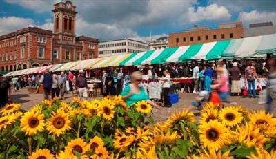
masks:
[(257, 10), (252, 10), (251, 12), (240, 12), (239, 20), (246, 25), (264, 21), (273, 21), (275, 24), (276, 12), (258, 12)]

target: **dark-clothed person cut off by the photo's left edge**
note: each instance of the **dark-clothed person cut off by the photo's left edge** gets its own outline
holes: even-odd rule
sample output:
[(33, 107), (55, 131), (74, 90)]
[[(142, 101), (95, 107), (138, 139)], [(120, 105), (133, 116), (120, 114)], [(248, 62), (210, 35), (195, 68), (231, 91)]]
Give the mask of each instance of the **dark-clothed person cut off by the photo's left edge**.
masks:
[(11, 98), (12, 89), (9, 82), (0, 74), (0, 107), (5, 106)]

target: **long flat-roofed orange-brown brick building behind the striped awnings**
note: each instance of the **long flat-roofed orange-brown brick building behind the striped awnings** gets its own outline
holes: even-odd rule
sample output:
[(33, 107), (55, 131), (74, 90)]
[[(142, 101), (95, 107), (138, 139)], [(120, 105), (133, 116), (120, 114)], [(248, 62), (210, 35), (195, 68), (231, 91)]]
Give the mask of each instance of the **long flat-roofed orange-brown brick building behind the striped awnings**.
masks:
[(226, 39), (239, 39), (243, 37), (242, 22), (220, 24), (218, 28), (195, 26), (191, 30), (171, 33), (168, 36), (168, 46), (187, 46)]

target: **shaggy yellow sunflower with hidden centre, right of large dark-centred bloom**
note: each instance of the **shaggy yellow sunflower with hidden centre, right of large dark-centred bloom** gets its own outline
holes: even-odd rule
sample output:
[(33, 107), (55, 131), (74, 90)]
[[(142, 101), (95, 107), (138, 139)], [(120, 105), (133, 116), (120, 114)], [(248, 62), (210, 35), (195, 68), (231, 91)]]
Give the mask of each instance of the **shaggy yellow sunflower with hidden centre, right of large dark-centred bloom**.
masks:
[(246, 123), (242, 127), (237, 127), (237, 135), (235, 136), (237, 142), (245, 144), (246, 147), (257, 147), (263, 149), (263, 144), (268, 141), (259, 128), (254, 127), (253, 124)]

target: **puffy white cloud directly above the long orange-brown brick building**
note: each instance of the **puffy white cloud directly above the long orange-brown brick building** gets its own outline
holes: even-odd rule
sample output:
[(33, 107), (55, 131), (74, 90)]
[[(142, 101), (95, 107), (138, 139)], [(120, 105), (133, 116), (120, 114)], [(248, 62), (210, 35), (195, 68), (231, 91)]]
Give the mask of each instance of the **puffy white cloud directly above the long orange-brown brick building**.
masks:
[(231, 17), (230, 12), (225, 6), (217, 6), (213, 3), (206, 7), (199, 6), (197, 10), (195, 8), (188, 8), (188, 14), (185, 19), (190, 22), (197, 22), (202, 20), (224, 20), (227, 21)]

